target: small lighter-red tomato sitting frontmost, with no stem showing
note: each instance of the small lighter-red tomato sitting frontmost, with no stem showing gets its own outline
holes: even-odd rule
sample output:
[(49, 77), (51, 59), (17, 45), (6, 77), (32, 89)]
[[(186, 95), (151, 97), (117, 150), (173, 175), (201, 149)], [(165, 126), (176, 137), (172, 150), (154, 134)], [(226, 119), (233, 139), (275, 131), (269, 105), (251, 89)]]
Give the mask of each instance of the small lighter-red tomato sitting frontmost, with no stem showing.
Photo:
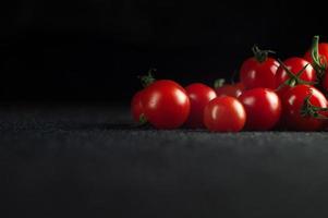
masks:
[(217, 97), (204, 110), (204, 124), (212, 132), (239, 132), (246, 121), (243, 105), (233, 97)]

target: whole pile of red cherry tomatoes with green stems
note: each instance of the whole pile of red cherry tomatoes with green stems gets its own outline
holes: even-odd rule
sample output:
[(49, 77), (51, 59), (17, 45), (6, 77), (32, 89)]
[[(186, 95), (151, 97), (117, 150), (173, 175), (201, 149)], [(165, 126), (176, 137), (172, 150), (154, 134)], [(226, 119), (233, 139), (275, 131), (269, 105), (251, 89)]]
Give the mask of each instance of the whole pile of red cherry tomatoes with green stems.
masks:
[(272, 51), (253, 47), (254, 57), (240, 69), (240, 82), (215, 87), (182, 87), (170, 80), (142, 77), (144, 89), (131, 102), (133, 118), (157, 129), (180, 126), (215, 132), (290, 130), (328, 126), (328, 44), (315, 36), (302, 58), (283, 62)]

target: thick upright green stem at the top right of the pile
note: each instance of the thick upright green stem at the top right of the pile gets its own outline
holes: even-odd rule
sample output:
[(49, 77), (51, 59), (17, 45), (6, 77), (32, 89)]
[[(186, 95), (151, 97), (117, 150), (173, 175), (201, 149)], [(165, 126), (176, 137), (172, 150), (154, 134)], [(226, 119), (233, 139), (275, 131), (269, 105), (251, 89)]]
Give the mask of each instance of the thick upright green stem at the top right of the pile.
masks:
[(313, 60), (313, 66), (317, 72), (317, 76), (319, 78), (323, 77), (327, 70), (327, 60), (324, 56), (319, 55), (319, 36), (313, 37), (311, 57)]

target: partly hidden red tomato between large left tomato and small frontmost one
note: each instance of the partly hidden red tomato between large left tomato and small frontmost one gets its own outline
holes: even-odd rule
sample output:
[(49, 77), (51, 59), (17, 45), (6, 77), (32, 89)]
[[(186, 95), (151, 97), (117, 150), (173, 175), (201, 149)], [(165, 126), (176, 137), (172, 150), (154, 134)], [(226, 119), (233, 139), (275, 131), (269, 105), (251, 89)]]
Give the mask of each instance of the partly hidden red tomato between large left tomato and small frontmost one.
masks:
[(204, 128), (204, 108), (211, 99), (217, 97), (216, 92), (202, 83), (186, 86), (185, 92), (191, 101), (191, 111), (185, 125), (189, 128)]

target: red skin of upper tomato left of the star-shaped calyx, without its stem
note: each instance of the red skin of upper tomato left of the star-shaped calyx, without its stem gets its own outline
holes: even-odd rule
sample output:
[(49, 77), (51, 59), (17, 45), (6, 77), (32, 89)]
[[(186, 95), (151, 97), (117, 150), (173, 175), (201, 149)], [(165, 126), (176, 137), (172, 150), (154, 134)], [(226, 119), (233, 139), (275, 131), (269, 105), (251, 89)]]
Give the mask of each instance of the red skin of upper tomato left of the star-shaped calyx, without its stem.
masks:
[(264, 62), (255, 58), (245, 60), (240, 70), (240, 80), (246, 89), (265, 87), (275, 88), (275, 75), (279, 62), (272, 58), (267, 58)]

